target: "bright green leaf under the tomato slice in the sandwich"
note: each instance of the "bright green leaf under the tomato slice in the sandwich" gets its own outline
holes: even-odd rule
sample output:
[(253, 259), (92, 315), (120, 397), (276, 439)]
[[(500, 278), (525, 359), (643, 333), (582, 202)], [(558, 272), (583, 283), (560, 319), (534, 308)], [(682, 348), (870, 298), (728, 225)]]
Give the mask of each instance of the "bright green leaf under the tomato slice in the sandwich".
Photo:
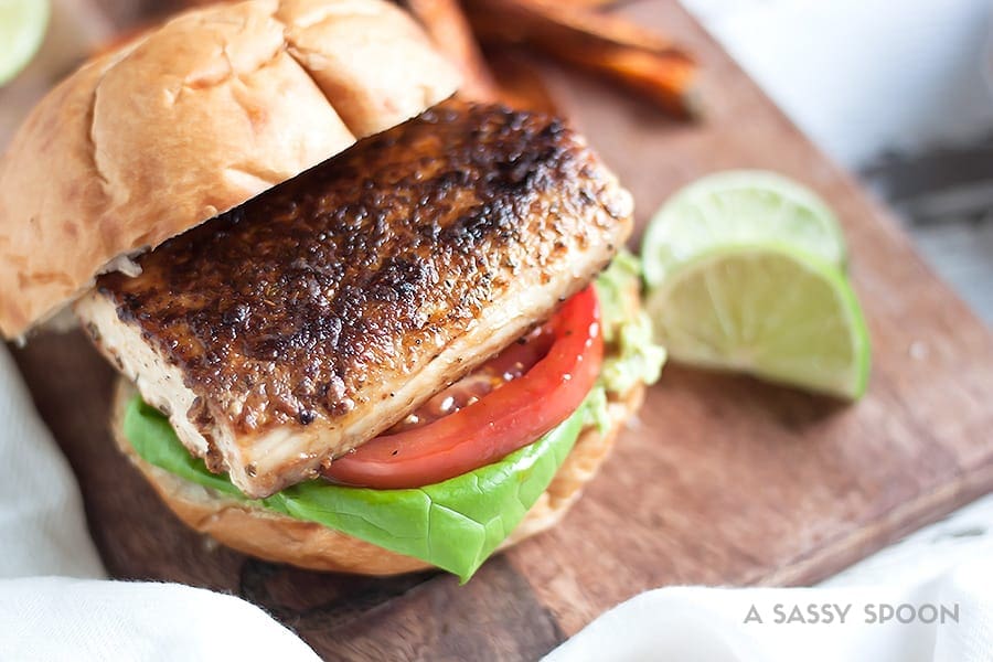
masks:
[[(414, 490), (370, 490), (321, 480), (255, 503), (414, 556), (467, 581), (534, 505), (587, 421), (602, 420), (595, 387), (569, 418), (502, 460)], [(185, 480), (247, 501), (224, 476), (193, 458), (169, 424), (139, 396), (128, 404), (124, 433), (141, 458)]]

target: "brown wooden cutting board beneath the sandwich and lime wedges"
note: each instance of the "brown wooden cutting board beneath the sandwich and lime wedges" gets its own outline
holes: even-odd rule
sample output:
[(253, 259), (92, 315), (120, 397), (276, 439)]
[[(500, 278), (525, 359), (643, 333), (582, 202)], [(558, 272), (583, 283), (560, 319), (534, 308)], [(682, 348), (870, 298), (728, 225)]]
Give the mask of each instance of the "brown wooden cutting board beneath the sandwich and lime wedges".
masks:
[(677, 186), (724, 168), (775, 169), (822, 193), (868, 316), (865, 399), (845, 407), (670, 365), (562, 525), (459, 587), (439, 573), (301, 572), (183, 528), (113, 449), (110, 370), (82, 335), (42, 335), (15, 355), (114, 576), (243, 596), (330, 658), (534, 659), (649, 588), (815, 581), (993, 487), (993, 337), (677, 4), (624, 11), (700, 55), (707, 121), (671, 121), (549, 67), (564, 105), (634, 193), (642, 226)]

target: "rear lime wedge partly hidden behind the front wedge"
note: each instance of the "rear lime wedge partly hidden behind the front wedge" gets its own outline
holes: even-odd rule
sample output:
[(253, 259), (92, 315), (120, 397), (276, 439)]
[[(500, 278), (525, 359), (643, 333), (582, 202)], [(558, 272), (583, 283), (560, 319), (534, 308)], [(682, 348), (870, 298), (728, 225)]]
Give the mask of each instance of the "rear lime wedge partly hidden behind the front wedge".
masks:
[(730, 170), (681, 189), (659, 210), (641, 246), (645, 282), (658, 286), (679, 265), (728, 242), (781, 242), (844, 268), (837, 220), (815, 193), (772, 172)]

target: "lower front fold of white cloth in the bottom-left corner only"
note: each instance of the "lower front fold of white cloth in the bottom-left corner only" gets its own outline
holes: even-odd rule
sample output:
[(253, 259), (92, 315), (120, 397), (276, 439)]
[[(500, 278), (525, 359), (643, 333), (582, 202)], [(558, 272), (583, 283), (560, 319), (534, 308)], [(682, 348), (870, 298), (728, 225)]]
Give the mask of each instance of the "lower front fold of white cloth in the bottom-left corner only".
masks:
[(179, 584), (0, 581), (2, 660), (317, 660), (248, 602)]

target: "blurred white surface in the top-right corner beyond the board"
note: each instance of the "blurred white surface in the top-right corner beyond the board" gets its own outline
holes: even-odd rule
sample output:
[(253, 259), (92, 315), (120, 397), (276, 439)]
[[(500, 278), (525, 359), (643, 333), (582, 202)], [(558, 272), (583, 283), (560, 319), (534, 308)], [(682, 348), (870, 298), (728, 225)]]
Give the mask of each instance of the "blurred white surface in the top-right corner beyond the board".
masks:
[(842, 164), (993, 129), (987, 0), (683, 0)]

